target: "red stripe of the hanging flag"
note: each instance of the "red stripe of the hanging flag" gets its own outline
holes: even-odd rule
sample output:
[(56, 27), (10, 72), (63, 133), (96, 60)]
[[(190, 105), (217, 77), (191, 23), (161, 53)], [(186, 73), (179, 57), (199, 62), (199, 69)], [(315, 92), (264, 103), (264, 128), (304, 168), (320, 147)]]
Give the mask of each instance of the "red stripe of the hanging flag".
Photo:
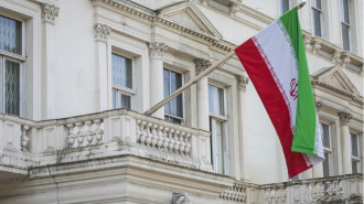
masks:
[(293, 133), (283, 96), (251, 39), (238, 46), (235, 53), (249, 75), (277, 131), (283, 149), (288, 175), (293, 178), (312, 165), (307, 164), (302, 153), (291, 151)]

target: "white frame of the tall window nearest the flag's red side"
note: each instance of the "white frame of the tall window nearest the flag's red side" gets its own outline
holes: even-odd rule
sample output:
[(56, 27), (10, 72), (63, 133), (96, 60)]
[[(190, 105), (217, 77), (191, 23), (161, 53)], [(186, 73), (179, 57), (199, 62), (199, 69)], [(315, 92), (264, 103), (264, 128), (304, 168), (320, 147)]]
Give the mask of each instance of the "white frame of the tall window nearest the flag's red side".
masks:
[[(208, 83), (207, 86), (215, 86), (217, 88), (221, 88), (223, 89), (223, 98), (224, 98), (224, 115), (220, 115), (220, 114), (215, 114), (215, 112), (208, 112), (210, 114), (210, 124), (212, 126), (212, 120), (217, 120), (217, 121), (222, 121), (223, 122), (223, 172), (221, 172), (222, 174), (224, 175), (227, 175), (229, 173), (229, 163), (228, 163), (228, 126), (227, 126), (227, 120), (228, 120), (228, 117), (227, 117), (227, 97), (226, 97), (226, 94), (227, 94), (227, 89), (226, 87), (223, 87), (223, 86), (220, 86), (217, 84), (214, 84), (214, 83)], [(207, 88), (208, 90), (208, 88)], [(210, 110), (208, 110), (210, 111)], [(212, 129), (212, 127), (210, 127), (210, 129)], [(215, 154), (216, 154), (216, 141), (214, 140), (213, 138), (213, 132), (211, 135), (211, 142), (212, 142), (212, 150), (211, 150), (211, 153), (212, 153), (212, 162), (213, 162), (213, 169), (214, 169), (214, 172), (217, 173), (217, 167), (215, 165), (215, 163), (217, 162), (217, 158), (215, 158)]]

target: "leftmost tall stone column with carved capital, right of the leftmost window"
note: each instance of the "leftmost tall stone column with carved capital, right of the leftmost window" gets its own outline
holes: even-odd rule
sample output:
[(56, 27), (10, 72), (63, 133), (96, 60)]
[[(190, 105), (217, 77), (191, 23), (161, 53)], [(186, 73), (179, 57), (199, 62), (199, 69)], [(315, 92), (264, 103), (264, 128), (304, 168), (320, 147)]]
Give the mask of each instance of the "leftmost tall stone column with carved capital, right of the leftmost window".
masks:
[(54, 22), (58, 17), (60, 8), (42, 3), (43, 20), (43, 119), (55, 117), (55, 66), (56, 66), (56, 47), (55, 47), (55, 29)]

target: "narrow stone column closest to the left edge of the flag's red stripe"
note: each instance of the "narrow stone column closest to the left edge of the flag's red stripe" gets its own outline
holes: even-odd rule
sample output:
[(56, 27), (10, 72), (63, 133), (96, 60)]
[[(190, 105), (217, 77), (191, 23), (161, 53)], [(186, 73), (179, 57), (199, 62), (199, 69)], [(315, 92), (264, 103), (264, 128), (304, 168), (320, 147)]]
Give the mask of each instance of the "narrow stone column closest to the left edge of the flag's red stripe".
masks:
[(249, 78), (246, 76), (237, 76), (237, 108), (238, 108), (238, 141), (239, 141), (239, 169), (240, 169), (240, 176), (237, 179), (246, 179), (246, 164), (245, 164), (245, 158), (247, 155), (247, 153), (245, 152), (245, 147), (247, 146), (247, 143), (244, 141), (244, 104), (245, 104), (245, 90), (246, 90), (246, 86), (249, 83)]

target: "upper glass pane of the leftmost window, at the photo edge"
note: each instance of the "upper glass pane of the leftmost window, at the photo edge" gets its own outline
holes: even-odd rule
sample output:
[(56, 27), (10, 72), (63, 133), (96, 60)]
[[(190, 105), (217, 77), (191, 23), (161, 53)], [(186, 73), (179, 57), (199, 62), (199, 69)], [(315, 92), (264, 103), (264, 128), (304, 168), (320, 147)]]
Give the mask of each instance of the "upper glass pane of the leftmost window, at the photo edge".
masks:
[(21, 22), (0, 15), (0, 50), (21, 54)]

